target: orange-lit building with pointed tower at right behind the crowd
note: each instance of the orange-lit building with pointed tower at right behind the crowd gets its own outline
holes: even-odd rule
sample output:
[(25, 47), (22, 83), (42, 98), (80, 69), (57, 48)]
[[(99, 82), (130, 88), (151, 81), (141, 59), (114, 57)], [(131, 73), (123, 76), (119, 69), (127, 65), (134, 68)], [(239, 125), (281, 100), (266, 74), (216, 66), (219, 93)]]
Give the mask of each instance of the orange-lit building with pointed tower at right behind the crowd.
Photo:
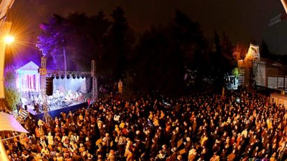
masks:
[(251, 44), (244, 60), (238, 62), (239, 85), (286, 89), (286, 66), (270, 59), (260, 58), (259, 46)]

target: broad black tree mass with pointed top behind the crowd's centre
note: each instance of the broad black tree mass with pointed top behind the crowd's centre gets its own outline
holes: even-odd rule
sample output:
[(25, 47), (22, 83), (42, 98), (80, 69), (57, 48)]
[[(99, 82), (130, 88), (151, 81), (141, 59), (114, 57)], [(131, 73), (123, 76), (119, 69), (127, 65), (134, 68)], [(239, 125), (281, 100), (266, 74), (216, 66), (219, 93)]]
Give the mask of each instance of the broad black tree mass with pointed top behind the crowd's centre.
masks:
[(172, 23), (152, 26), (139, 38), (134, 61), (137, 86), (146, 93), (182, 95), (186, 68), (202, 75), (208, 70), (206, 47), (200, 25), (176, 10)]

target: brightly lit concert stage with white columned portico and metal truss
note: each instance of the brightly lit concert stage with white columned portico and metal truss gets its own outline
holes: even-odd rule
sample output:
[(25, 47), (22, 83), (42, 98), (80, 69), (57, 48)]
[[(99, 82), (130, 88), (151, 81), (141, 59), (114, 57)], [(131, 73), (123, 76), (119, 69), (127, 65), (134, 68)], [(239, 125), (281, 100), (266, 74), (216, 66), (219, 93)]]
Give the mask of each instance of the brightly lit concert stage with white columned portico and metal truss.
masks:
[[(79, 108), (87, 108), (85, 94), (92, 91), (97, 98), (97, 84), (92, 72), (47, 70), (46, 59), (41, 57), (41, 66), (33, 61), (25, 64), (16, 72), (16, 87), (20, 91), (21, 107), (35, 119), (43, 119), (43, 102), (48, 105), (48, 113), (54, 119), (61, 112), (75, 112)], [(92, 89), (87, 89), (91, 85)]]

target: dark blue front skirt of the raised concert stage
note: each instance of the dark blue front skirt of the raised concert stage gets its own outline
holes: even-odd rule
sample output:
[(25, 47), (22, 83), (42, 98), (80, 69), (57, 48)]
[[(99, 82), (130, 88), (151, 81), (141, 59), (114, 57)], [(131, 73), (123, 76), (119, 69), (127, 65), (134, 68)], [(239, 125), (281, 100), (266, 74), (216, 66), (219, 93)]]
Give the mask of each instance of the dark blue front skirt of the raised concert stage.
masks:
[[(55, 119), (55, 117), (59, 117), (61, 112), (64, 112), (68, 114), (71, 112), (76, 112), (76, 110), (80, 108), (87, 108), (87, 102), (83, 103), (74, 103), (73, 105), (67, 106), (67, 107), (51, 107), (49, 111), (49, 115), (52, 117), (52, 119)], [(34, 111), (34, 106), (27, 105), (27, 111), (30, 113), (30, 116), (36, 120), (43, 119), (44, 113), (37, 113)]]

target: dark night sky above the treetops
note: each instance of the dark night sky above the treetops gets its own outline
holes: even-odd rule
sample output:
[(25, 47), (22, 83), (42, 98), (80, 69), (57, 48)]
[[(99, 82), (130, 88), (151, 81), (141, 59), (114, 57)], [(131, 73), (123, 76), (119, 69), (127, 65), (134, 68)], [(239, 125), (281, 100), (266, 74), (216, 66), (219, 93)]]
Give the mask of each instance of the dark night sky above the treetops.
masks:
[(280, 0), (15, 0), (9, 19), (15, 26), (24, 24), (25, 35), (38, 32), (38, 24), (48, 22), (52, 13), (70, 12), (95, 15), (104, 10), (110, 15), (117, 6), (125, 10), (130, 26), (144, 31), (151, 25), (166, 24), (179, 8), (202, 26), (204, 35), (213, 38), (214, 31), (225, 31), (233, 45), (248, 47), (251, 40), (267, 42), (271, 52), (287, 54), (287, 20), (268, 26), (269, 20), (284, 9)]

